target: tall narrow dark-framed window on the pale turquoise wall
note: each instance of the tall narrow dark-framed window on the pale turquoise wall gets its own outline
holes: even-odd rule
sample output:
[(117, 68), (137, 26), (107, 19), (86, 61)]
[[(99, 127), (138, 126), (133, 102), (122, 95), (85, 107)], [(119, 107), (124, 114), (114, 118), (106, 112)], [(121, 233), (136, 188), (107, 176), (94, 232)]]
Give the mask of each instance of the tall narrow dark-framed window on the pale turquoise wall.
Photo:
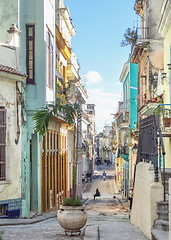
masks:
[(26, 25), (26, 64), (28, 84), (35, 84), (35, 26)]

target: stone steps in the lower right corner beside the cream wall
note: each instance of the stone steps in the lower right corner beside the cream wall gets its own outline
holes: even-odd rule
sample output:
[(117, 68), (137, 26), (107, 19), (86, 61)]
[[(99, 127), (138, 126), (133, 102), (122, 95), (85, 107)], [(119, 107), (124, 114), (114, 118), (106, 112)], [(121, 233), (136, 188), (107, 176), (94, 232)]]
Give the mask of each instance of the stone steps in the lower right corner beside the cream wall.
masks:
[(158, 219), (151, 230), (152, 240), (169, 239), (169, 204), (168, 201), (157, 203)]

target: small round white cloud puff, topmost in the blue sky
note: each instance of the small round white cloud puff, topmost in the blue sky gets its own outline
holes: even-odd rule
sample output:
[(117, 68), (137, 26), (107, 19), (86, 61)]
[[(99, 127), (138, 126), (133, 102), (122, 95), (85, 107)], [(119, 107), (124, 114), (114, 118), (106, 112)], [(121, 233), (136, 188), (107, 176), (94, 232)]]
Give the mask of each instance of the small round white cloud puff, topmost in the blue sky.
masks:
[(96, 71), (89, 71), (81, 76), (81, 81), (86, 85), (99, 83), (102, 80), (102, 76)]

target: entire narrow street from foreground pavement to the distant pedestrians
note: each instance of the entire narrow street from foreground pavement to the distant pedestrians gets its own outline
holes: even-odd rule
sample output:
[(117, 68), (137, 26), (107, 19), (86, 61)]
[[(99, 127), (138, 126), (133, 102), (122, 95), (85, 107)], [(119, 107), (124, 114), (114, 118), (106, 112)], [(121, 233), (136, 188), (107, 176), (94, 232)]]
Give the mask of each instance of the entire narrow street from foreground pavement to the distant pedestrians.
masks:
[[(106, 181), (102, 179), (104, 170), (107, 173)], [(94, 200), (96, 188), (99, 189), (101, 197)], [(95, 167), (92, 182), (85, 184), (83, 200), (88, 212), (88, 221), (81, 236), (66, 236), (57, 219), (51, 218), (34, 224), (0, 226), (3, 240), (147, 240), (139, 229), (130, 224), (129, 203), (117, 193), (113, 167), (106, 165)]]

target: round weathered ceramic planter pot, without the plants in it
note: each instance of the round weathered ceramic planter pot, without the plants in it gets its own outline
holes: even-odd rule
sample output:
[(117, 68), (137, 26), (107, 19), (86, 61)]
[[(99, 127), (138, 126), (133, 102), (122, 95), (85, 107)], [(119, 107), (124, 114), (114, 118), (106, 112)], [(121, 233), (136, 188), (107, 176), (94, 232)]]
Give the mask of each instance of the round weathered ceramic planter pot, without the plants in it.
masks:
[(84, 206), (61, 206), (57, 213), (57, 219), (65, 232), (80, 232), (87, 222), (87, 212)]

